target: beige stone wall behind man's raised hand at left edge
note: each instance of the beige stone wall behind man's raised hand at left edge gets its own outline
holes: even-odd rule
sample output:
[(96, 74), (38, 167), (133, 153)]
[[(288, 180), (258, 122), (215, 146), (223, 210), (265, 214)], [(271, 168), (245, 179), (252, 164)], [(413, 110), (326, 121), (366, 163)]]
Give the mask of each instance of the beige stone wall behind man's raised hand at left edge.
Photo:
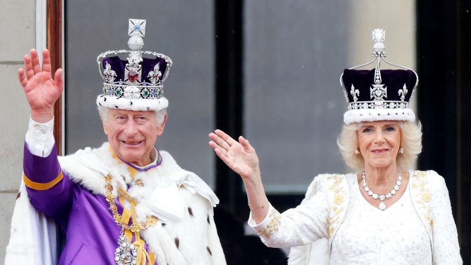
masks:
[(2, 0), (0, 8), (0, 264), (23, 172), (29, 106), (18, 82), (23, 56), (36, 46), (36, 1)]

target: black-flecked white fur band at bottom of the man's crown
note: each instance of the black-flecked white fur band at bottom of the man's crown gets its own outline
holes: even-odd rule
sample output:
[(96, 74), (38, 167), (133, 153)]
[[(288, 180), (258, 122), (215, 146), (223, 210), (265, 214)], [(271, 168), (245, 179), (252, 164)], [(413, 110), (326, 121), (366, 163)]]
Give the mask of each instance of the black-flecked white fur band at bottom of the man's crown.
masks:
[(125, 99), (114, 96), (98, 95), (97, 106), (109, 108), (128, 109), (134, 111), (159, 111), (168, 107), (168, 100), (164, 97), (160, 99)]

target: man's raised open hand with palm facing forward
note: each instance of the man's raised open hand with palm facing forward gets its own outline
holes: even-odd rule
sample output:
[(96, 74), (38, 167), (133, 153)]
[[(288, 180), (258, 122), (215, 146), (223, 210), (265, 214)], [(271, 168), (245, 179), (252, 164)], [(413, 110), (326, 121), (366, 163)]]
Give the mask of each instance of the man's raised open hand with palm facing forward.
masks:
[(25, 69), (18, 70), (18, 78), (31, 108), (31, 118), (36, 122), (46, 123), (54, 116), (54, 103), (62, 93), (62, 69), (57, 69), (52, 79), (49, 51), (43, 51), (42, 69), (36, 50), (31, 49), (30, 54), (31, 56), (25, 55)]

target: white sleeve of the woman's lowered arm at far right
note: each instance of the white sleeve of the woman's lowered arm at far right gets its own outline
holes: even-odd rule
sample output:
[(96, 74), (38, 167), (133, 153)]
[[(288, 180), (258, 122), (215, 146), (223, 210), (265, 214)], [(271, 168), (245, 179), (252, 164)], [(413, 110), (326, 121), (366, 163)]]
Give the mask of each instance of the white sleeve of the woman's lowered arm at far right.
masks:
[(433, 264), (463, 264), (445, 180), (438, 174), (432, 178)]

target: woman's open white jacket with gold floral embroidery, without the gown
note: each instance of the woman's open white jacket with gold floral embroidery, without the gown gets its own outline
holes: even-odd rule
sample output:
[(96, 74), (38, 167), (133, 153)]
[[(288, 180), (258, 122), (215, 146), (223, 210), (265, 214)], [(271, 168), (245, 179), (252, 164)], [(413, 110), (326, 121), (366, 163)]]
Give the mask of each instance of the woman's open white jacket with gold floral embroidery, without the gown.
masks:
[[(444, 178), (432, 170), (409, 172), (409, 191), (430, 238), (433, 264), (462, 264)], [(348, 208), (346, 177), (348, 175), (318, 175), (298, 207), (280, 214), (270, 205), (267, 216), (260, 224), (256, 224), (250, 214), (249, 225), (265, 245), (292, 247), (289, 265), (328, 264), (332, 240)], [(327, 206), (325, 209), (313, 204), (315, 200), (312, 198), (317, 193), (327, 194), (321, 196), (327, 201), (321, 203)]]

